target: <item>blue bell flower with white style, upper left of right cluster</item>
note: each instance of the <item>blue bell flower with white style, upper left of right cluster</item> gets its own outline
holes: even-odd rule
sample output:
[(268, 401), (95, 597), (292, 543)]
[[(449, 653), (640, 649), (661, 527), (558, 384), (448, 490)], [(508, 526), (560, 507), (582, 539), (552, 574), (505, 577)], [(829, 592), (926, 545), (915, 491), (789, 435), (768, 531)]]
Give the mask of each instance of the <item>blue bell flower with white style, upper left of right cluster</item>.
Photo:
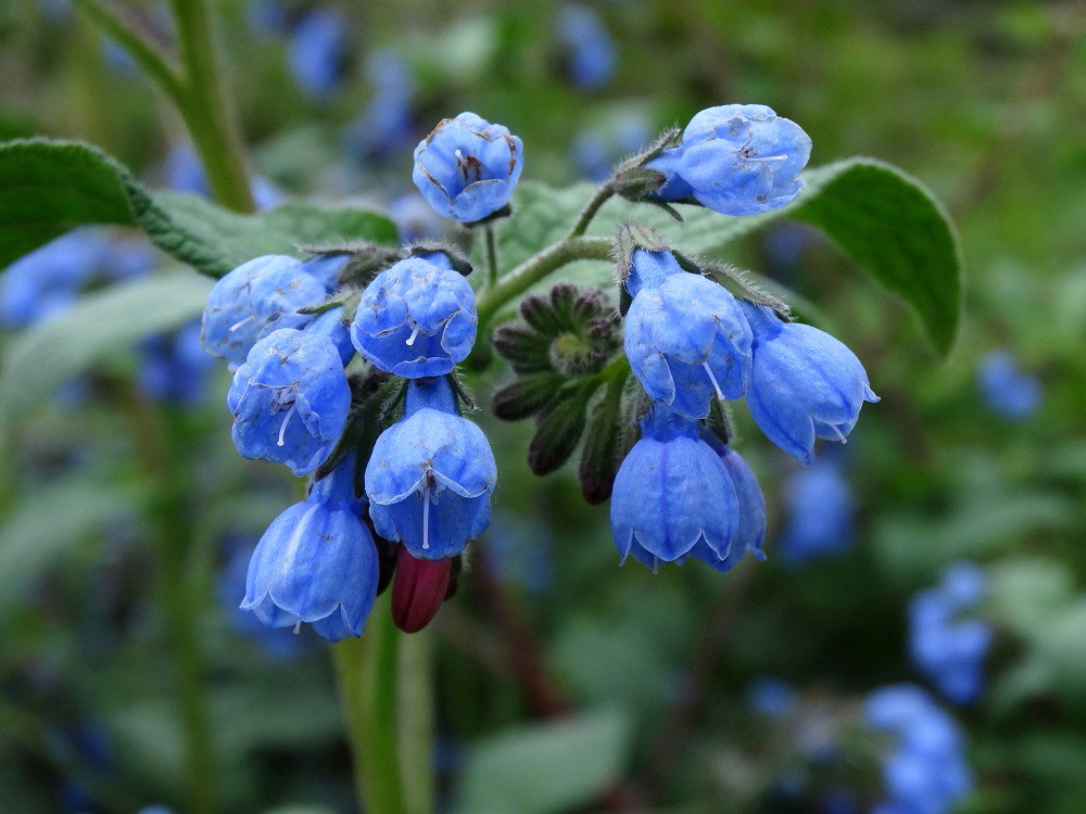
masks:
[(750, 327), (727, 289), (698, 275), (645, 284), (626, 315), (630, 368), (648, 397), (687, 418), (712, 397), (740, 398), (750, 370)]

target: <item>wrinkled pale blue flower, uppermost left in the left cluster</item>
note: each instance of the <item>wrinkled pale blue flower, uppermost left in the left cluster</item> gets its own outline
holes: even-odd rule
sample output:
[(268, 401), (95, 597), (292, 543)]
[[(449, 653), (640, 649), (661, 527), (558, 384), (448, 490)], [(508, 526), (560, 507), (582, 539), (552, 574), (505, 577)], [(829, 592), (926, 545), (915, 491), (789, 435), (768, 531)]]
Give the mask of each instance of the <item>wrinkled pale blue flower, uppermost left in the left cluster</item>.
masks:
[(324, 284), (293, 257), (256, 257), (212, 287), (203, 313), (204, 348), (240, 365), (262, 335), (279, 328), (301, 328), (312, 317), (296, 314), (298, 308), (326, 297)]

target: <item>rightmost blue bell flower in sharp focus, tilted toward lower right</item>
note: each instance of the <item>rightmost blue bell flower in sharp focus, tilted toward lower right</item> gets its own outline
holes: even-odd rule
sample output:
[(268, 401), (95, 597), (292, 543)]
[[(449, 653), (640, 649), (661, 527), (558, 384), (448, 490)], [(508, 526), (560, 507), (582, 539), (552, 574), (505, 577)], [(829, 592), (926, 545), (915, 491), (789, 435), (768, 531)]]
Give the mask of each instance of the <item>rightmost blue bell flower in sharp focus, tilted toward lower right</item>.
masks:
[(754, 331), (747, 406), (766, 436), (804, 463), (815, 438), (844, 443), (863, 402), (877, 402), (856, 354), (829, 333), (782, 322), (768, 307), (742, 302)]

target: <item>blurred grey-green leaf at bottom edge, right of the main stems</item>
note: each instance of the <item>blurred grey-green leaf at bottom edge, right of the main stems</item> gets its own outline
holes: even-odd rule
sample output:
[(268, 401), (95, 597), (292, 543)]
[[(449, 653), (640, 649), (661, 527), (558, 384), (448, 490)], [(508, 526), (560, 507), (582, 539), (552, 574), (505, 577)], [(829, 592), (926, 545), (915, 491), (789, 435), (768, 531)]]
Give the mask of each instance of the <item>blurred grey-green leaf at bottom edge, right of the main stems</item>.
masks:
[(629, 721), (614, 710), (488, 738), (468, 755), (455, 811), (548, 814), (585, 805), (618, 776), (629, 741)]

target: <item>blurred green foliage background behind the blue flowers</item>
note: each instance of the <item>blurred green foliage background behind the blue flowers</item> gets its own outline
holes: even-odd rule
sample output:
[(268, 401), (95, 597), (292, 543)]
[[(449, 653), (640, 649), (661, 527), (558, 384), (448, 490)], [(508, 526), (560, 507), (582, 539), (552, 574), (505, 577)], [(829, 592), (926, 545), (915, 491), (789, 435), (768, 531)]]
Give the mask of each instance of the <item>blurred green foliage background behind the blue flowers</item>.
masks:
[[(881, 685), (925, 685), (908, 654), (910, 597), (970, 560), (988, 576), (977, 613), (994, 645), (980, 700), (954, 709), (975, 774), (960, 810), (1082, 811), (1081, 3), (601, 1), (589, 8), (614, 71), (596, 87), (576, 81), (556, 3), (332, 3), (342, 41), (321, 98), (290, 55), (315, 4), (283, 0), (272, 26), (255, 5), (214, 3), (219, 44), (252, 169), (287, 195), (389, 205), (411, 190), (414, 143), (462, 110), (523, 139), (526, 179), (564, 185), (592, 171), (585, 139), (614, 161), (632, 149), (623, 126), (652, 138), (703, 107), (756, 102), (807, 130), (815, 166), (867, 155), (915, 176), (961, 239), (964, 315), (945, 364), (906, 308), (813, 232), (762, 231), (727, 257), (816, 302), (882, 396), (838, 461), (856, 509), (841, 550), (776, 556), (795, 468), (742, 410), (768, 559), (728, 574), (617, 568), (606, 507), (581, 500), (573, 465), (533, 478), (530, 428), (477, 416), (498, 459), (495, 522), (422, 634), (442, 810), (818, 812), (842, 789), (866, 809), (881, 786), (859, 703)], [(380, 97), (382, 53), (409, 76), (411, 126), (376, 149), (356, 123)], [(86, 139), (152, 186), (171, 180), (179, 118), (65, 3), (0, 9), (0, 76), (3, 139)], [(16, 338), (4, 330), (0, 351)], [(1009, 417), (982, 386), (994, 349), (1036, 382), (1035, 407)], [(352, 811), (327, 647), (269, 640), (233, 610), (243, 567), (231, 577), (231, 559), (296, 487), (237, 456), (225, 371), (172, 404), (141, 391), (141, 358), (117, 348), (78, 394), (3, 438), (0, 811), (186, 810), (172, 593), (159, 578), (171, 549), (149, 542), (164, 494), (185, 508), (173, 533), (197, 598), (185, 612), (204, 652), (222, 810)], [(480, 403), (502, 381), (472, 381)], [(787, 714), (752, 709), (765, 676), (792, 687)], [(812, 758), (813, 741), (836, 756)]]

